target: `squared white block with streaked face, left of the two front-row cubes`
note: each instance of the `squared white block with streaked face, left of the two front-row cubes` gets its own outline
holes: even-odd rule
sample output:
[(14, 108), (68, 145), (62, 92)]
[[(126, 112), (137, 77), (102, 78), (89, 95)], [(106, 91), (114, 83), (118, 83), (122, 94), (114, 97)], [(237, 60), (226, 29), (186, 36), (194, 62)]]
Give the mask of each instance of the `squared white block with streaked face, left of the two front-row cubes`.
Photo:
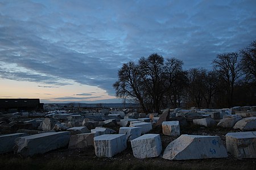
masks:
[(104, 134), (94, 137), (95, 154), (98, 157), (112, 157), (127, 147), (125, 134)]

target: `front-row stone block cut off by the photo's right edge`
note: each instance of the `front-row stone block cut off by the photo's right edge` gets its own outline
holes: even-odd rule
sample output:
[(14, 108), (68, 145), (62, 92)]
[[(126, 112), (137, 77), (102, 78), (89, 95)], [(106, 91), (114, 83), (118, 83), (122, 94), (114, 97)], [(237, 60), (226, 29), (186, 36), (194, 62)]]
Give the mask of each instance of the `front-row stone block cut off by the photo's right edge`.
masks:
[(226, 134), (226, 149), (238, 159), (256, 158), (256, 131)]

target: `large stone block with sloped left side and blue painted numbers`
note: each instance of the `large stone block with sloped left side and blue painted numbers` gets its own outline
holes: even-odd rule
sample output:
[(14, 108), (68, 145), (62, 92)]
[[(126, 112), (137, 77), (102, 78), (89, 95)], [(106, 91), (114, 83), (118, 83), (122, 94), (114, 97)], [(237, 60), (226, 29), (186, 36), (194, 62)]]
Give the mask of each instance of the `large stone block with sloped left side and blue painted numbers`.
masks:
[(187, 160), (226, 158), (228, 154), (218, 136), (181, 135), (163, 152), (163, 159)]

